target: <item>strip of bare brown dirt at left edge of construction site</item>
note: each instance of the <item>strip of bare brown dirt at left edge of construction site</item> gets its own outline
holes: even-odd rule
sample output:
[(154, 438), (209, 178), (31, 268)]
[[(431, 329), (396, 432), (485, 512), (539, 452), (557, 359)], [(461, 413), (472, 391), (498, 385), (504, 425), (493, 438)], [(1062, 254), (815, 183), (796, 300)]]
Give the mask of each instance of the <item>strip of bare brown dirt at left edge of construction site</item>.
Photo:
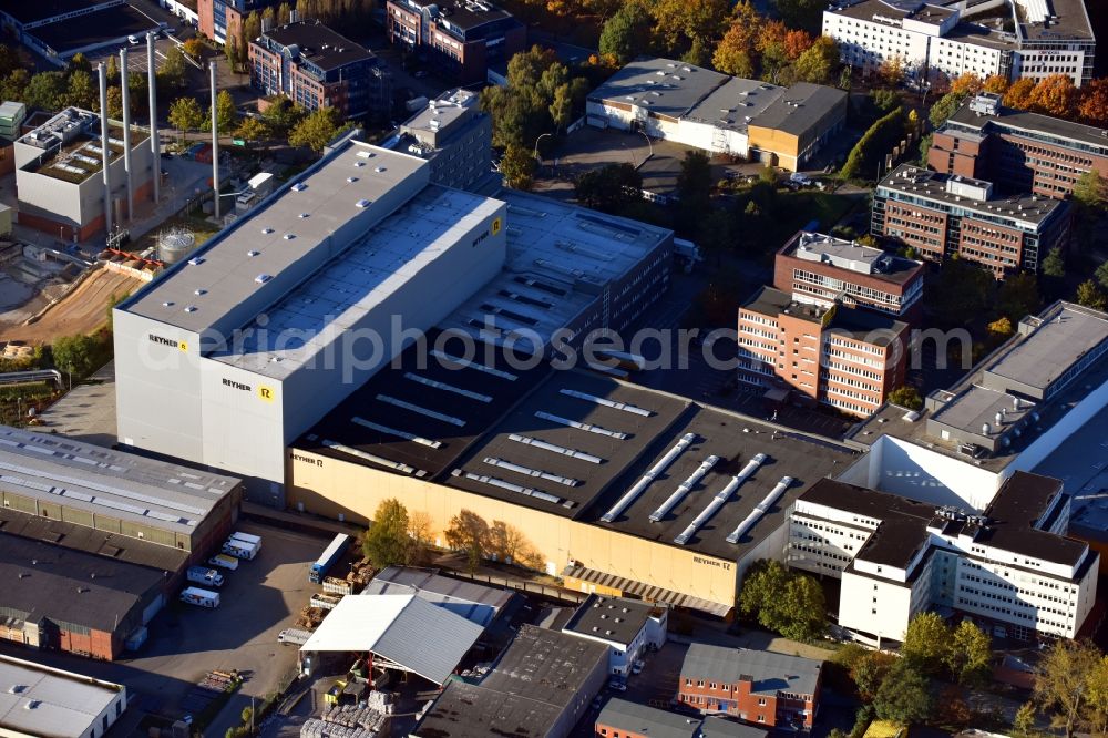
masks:
[(91, 334), (107, 322), (107, 300), (113, 294), (122, 297), (141, 286), (134, 277), (98, 269), (29, 326), (0, 316), (0, 340), (39, 345), (51, 344), (62, 336)]

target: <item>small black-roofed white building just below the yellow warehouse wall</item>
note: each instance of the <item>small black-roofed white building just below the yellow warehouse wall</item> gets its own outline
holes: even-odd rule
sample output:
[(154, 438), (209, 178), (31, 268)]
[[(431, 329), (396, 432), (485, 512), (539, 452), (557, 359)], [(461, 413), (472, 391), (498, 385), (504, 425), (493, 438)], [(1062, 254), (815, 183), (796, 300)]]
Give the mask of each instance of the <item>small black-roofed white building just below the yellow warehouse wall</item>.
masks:
[(669, 611), (626, 597), (589, 595), (562, 628), (562, 633), (608, 646), (608, 672), (627, 675), (645, 648), (666, 643)]

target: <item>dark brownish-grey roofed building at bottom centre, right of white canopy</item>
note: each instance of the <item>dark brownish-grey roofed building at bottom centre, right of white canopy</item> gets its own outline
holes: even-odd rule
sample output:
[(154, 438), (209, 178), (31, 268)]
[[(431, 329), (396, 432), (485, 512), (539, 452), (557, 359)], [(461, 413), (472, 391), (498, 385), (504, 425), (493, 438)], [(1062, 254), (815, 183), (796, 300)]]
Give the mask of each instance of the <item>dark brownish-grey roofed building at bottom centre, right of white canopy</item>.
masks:
[(451, 680), (411, 731), (422, 738), (565, 738), (607, 678), (607, 648), (533, 625), (476, 684)]

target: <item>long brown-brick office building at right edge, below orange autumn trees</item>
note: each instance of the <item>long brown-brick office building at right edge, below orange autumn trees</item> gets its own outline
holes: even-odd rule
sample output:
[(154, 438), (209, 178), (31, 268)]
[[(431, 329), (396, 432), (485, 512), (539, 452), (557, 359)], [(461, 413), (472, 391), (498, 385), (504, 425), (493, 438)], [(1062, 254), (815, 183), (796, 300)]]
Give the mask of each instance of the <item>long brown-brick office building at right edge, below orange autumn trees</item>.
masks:
[(991, 180), (1005, 191), (1063, 199), (1086, 172), (1108, 176), (1108, 135), (1089, 125), (1004, 107), (999, 95), (982, 93), (935, 131), (927, 165)]

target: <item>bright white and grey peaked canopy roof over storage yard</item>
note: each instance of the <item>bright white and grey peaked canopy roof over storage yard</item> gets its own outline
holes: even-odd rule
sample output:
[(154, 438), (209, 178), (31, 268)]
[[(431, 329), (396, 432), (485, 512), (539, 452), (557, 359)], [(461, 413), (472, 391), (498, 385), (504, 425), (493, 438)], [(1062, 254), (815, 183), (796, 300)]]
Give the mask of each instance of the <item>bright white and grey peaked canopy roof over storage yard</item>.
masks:
[(416, 595), (365, 595), (343, 597), (300, 650), (368, 650), (441, 685), (483, 632)]

